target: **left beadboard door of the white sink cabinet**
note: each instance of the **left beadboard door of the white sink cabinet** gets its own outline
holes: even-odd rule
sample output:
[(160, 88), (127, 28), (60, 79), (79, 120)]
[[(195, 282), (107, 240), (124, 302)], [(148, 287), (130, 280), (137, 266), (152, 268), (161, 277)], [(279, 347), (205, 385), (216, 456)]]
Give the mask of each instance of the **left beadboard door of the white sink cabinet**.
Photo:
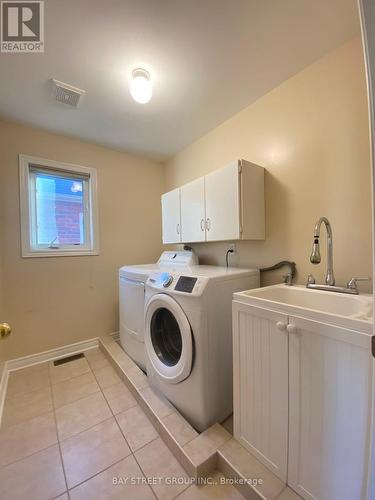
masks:
[(286, 315), (233, 302), (234, 436), (282, 481), (288, 457)]

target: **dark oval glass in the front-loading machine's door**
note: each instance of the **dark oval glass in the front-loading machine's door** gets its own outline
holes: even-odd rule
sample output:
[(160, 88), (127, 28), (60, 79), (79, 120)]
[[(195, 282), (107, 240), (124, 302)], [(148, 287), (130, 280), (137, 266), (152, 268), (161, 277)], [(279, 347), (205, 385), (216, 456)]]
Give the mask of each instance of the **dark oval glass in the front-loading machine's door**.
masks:
[(157, 357), (167, 366), (175, 366), (182, 353), (180, 327), (169, 309), (157, 309), (151, 318), (151, 342)]

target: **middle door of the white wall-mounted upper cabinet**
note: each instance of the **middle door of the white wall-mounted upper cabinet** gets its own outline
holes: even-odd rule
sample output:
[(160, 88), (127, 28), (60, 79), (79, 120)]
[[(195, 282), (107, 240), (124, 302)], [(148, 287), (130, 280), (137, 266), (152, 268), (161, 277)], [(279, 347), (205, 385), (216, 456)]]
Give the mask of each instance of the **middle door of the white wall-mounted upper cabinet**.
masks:
[(204, 177), (181, 187), (182, 241), (205, 241)]

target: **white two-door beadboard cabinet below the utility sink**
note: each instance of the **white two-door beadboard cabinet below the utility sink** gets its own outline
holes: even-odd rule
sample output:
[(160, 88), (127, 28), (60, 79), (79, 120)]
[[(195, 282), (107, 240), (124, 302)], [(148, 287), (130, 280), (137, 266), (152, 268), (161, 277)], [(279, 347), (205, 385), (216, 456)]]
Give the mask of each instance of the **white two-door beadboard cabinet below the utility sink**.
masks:
[(371, 334), (286, 309), (233, 302), (234, 435), (304, 499), (365, 500)]

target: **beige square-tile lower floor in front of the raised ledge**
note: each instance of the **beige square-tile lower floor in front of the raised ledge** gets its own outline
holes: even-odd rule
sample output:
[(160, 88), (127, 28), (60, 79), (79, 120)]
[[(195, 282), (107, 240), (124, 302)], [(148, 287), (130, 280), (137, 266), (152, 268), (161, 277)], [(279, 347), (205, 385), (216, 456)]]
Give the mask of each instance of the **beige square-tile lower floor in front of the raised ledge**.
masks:
[(0, 428), (2, 500), (241, 499), (195, 486), (99, 349), (10, 374)]

